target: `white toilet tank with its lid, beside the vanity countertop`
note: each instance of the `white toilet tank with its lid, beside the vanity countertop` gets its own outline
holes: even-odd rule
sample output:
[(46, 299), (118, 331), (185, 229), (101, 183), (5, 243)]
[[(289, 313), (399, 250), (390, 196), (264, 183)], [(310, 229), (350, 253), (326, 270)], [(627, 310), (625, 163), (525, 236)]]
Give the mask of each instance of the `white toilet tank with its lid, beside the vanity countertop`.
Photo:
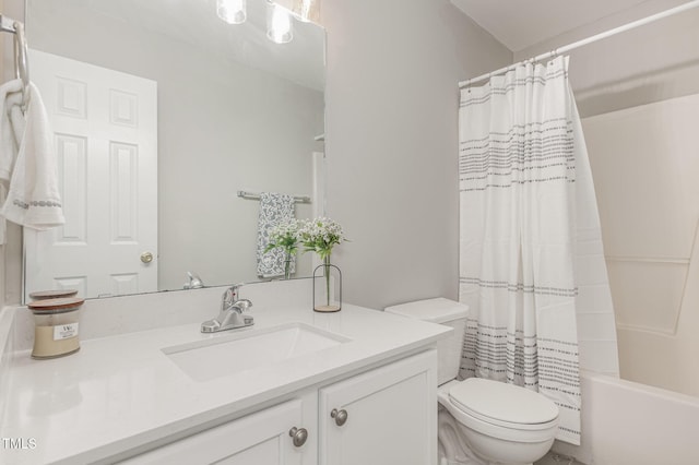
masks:
[(451, 336), (437, 343), (437, 379), (439, 384), (443, 384), (457, 378), (469, 306), (438, 297), (387, 307), (384, 310), (389, 313), (453, 327), (454, 332)]

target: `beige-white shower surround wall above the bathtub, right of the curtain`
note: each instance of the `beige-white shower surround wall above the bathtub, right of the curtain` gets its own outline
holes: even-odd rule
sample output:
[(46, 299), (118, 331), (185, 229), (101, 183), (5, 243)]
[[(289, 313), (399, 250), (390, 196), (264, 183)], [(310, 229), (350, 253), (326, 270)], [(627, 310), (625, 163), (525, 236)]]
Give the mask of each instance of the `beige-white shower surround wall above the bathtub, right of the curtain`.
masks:
[(699, 395), (699, 94), (583, 119), (621, 378)]

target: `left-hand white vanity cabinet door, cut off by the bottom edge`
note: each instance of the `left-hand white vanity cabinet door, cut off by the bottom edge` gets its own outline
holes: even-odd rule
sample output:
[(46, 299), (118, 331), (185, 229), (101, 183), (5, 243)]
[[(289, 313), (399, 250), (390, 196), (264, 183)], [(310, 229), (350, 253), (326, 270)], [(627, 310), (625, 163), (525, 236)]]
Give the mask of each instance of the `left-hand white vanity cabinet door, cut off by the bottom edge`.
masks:
[(303, 427), (301, 404), (300, 400), (288, 401), (123, 463), (301, 465), (304, 455), (316, 454), (307, 451), (308, 443), (295, 446), (289, 436), (292, 428)]

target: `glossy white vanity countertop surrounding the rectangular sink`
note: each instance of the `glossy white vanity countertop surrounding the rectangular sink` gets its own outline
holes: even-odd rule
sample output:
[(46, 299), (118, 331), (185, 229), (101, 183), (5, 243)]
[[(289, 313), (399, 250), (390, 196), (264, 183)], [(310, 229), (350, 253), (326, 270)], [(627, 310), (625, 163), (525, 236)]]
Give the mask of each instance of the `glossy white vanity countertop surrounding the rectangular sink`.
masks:
[[(0, 462), (92, 463), (115, 456), (417, 351), (451, 332), (351, 305), (337, 313), (289, 306), (257, 308), (250, 314), (256, 324), (234, 332), (202, 334), (199, 323), (190, 323), (82, 341), (79, 353), (52, 360), (33, 360), (29, 350), (11, 354), (0, 436), (23, 448), (0, 444)], [(210, 381), (194, 381), (162, 351), (289, 322), (351, 341)], [(230, 354), (216, 362), (245, 357)]]

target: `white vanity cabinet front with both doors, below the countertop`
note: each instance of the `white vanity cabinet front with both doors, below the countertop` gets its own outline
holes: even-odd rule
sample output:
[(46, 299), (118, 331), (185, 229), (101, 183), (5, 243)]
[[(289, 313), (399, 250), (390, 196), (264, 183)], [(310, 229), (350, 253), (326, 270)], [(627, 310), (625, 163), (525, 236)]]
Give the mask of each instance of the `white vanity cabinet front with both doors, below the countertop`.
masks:
[(436, 351), (426, 350), (330, 385), (321, 383), (280, 405), (121, 463), (436, 464)]

